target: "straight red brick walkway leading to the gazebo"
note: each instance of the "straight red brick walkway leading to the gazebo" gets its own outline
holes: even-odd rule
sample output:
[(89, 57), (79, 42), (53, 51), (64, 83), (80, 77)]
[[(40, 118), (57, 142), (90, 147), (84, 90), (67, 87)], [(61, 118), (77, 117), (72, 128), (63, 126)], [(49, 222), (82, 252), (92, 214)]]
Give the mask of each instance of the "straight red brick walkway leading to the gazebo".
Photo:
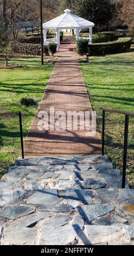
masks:
[[(65, 49), (66, 46), (64, 45)], [(74, 47), (74, 46), (73, 46)], [(66, 51), (66, 50), (65, 50)], [(75, 52), (58, 53), (58, 61), (43, 94), (37, 113), (55, 111), (92, 111)], [(37, 113), (25, 139), (25, 156), (101, 154), (101, 138), (85, 131), (39, 131)]]

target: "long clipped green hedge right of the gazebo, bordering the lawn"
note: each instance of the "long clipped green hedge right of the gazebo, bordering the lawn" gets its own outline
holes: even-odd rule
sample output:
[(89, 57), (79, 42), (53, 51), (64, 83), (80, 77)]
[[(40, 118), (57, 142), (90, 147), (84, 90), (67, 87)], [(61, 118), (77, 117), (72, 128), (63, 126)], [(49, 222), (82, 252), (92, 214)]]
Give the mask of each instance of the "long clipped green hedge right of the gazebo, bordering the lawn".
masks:
[(102, 42), (88, 45), (88, 53), (93, 55), (105, 55), (129, 51), (132, 38), (119, 38), (117, 41)]

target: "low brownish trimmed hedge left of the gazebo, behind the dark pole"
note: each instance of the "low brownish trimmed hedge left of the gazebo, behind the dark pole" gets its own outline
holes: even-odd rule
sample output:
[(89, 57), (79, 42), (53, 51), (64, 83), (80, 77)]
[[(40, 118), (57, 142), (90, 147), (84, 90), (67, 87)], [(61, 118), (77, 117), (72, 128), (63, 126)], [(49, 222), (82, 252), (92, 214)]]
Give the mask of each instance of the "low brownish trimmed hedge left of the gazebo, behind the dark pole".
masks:
[[(24, 55), (41, 55), (41, 45), (39, 44), (25, 44), (21, 42), (17, 42), (16, 44), (12, 44), (12, 50), (15, 53), (20, 53)], [(48, 47), (43, 45), (43, 52), (48, 56)]]

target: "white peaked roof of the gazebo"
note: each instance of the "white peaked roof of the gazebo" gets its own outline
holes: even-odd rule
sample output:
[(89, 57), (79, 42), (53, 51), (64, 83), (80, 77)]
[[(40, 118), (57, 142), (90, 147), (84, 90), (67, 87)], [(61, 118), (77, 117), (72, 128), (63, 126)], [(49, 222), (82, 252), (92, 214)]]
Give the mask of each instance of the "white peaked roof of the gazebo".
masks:
[(47, 29), (72, 29), (72, 28), (90, 28), (94, 27), (94, 23), (87, 21), (71, 13), (66, 9), (65, 13), (55, 19), (43, 24), (43, 28)]

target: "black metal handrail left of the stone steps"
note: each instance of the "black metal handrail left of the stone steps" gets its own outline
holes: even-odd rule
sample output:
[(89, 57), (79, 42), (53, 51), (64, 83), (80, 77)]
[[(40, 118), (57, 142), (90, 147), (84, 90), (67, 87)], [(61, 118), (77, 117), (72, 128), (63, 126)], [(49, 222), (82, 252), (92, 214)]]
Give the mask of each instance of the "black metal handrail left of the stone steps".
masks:
[(24, 159), (23, 131), (22, 131), (22, 113), (21, 113), (21, 111), (3, 112), (3, 113), (0, 113), (0, 116), (2, 116), (2, 115), (10, 115), (10, 114), (18, 114), (19, 115), (20, 135), (21, 135), (21, 153), (22, 153), (22, 159)]

